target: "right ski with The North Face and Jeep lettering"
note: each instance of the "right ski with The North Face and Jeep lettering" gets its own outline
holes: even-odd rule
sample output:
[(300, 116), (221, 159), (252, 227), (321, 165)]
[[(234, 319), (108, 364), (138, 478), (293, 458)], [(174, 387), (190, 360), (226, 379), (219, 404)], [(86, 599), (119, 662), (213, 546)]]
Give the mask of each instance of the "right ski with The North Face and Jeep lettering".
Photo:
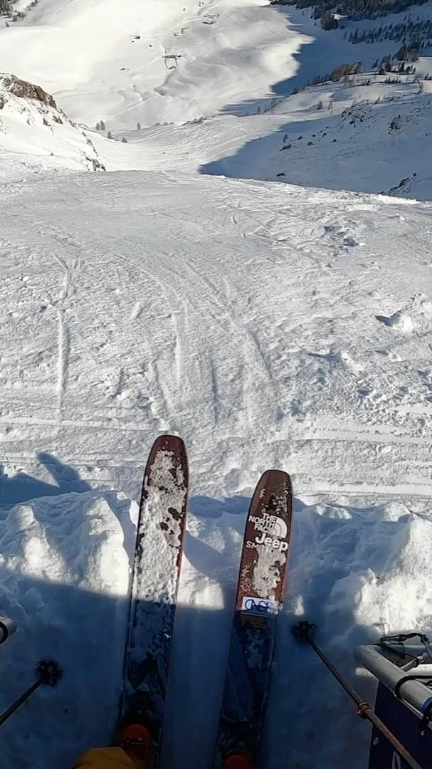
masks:
[[(214, 769), (255, 766), (284, 598), (293, 494), (287, 473), (261, 476), (249, 508), (241, 554)], [(236, 763), (235, 756), (244, 756)]]

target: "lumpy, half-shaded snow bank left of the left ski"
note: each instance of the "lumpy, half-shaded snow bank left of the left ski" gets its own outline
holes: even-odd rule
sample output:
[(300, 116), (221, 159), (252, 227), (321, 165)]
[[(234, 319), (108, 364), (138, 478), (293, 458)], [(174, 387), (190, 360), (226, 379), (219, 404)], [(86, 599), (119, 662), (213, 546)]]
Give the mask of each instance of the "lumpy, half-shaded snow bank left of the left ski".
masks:
[(88, 724), (95, 743), (107, 740), (136, 508), (122, 494), (85, 491), (22, 502), (2, 516), (2, 613), (18, 623), (2, 647), (2, 711), (34, 683), (39, 661), (62, 669), (56, 687), (40, 688), (2, 727), (2, 766), (71, 767)]

